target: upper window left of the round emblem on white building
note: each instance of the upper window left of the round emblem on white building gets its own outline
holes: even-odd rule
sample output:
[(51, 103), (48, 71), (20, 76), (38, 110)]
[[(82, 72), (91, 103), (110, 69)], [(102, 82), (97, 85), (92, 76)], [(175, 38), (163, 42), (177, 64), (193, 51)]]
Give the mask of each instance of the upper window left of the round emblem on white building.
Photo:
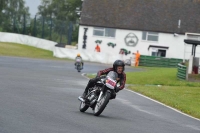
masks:
[(116, 29), (95, 27), (93, 31), (94, 36), (115, 37)]

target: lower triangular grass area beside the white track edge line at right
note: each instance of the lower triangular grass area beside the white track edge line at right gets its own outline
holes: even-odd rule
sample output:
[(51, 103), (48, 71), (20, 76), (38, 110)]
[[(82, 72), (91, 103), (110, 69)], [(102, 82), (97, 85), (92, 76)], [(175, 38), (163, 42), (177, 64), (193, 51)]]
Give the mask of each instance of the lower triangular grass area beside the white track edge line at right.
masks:
[(129, 89), (200, 119), (199, 87), (131, 86)]

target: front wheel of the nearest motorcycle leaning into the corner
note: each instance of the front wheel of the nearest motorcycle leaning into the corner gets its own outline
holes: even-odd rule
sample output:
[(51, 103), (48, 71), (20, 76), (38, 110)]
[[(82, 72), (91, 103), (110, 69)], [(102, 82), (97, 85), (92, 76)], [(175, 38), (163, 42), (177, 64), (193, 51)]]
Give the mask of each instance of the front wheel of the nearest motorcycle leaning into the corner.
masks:
[(105, 93), (105, 95), (102, 95), (100, 101), (98, 103), (96, 103), (95, 107), (94, 107), (94, 115), (95, 116), (99, 116), (103, 110), (105, 109), (106, 105), (108, 104), (109, 100), (110, 100), (111, 94), (107, 91)]

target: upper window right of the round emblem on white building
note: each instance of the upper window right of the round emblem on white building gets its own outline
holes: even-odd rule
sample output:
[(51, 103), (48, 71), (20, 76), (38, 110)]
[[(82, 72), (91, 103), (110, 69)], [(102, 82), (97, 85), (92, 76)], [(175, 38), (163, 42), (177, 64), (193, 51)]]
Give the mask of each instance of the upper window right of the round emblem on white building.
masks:
[(142, 40), (157, 42), (158, 41), (158, 33), (143, 31), (142, 32)]

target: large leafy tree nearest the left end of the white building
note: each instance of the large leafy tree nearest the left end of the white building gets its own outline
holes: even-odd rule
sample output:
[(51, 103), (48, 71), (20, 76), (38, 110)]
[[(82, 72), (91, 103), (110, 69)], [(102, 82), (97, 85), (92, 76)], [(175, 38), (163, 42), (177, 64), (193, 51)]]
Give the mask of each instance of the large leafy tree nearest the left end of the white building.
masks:
[[(42, 0), (38, 7), (40, 18), (47, 23), (53, 23), (53, 39), (66, 40), (69, 32), (70, 22), (74, 24), (79, 20), (76, 13), (76, 8), (82, 4), (81, 0)], [(74, 25), (74, 32), (72, 34), (72, 41), (78, 41), (78, 26)], [(59, 35), (56, 35), (56, 33)], [(64, 37), (62, 37), (64, 35)], [(55, 37), (59, 37), (55, 38)]]

